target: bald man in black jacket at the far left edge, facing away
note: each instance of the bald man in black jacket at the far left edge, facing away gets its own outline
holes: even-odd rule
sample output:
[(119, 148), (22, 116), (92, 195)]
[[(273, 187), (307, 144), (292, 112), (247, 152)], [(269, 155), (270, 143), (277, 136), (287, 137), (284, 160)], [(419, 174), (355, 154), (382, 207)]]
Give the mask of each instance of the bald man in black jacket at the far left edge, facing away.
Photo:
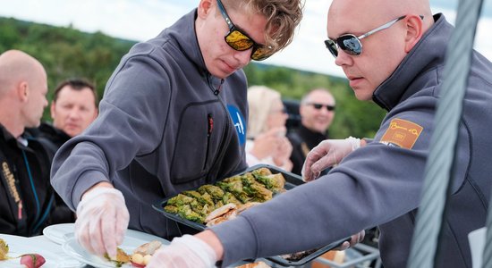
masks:
[(0, 233), (34, 236), (56, 222), (50, 159), (24, 133), (39, 126), (47, 107), (47, 72), (19, 50), (0, 54)]

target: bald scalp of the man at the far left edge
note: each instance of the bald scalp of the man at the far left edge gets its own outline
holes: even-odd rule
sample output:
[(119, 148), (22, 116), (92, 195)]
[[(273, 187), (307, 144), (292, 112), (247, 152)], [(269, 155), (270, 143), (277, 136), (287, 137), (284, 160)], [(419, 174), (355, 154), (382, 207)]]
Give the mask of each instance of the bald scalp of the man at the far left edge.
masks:
[(36, 83), (46, 77), (43, 65), (30, 54), (8, 50), (0, 54), (0, 97), (22, 81)]

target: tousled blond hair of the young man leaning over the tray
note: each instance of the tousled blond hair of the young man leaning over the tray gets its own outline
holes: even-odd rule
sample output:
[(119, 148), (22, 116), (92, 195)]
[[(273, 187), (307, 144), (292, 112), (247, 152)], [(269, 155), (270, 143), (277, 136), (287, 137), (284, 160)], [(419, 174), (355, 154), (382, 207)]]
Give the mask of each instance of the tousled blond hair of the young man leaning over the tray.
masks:
[(227, 7), (259, 13), (267, 18), (265, 41), (274, 52), (284, 49), (293, 41), (296, 27), (302, 19), (301, 0), (223, 0)]

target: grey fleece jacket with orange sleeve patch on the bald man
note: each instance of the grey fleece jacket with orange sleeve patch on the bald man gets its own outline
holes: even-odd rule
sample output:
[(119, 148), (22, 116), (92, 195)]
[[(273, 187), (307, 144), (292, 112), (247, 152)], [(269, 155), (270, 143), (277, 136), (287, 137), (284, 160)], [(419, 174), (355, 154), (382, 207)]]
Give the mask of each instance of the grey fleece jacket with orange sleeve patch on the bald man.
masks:
[[(385, 268), (406, 267), (453, 27), (442, 14), (374, 93), (388, 113), (367, 147), (326, 176), (213, 227), (224, 264), (327, 245), (379, 226)], [(492, 165), (492, 63), (477, 52), (460, 121), (452, 195), (436, 267), (471, 267), (467, 235), (484, 226)]]

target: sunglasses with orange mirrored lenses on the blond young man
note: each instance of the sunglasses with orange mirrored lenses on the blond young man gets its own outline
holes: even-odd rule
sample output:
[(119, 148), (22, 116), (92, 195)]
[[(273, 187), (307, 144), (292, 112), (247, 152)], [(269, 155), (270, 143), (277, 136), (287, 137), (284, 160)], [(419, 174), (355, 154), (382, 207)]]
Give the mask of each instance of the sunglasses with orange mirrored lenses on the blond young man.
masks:
[(231, 18), (225, 12), (224, 4), (220, 0), (217, 0), (217, 6), (222, 13), (222, 16), (227, 22), (227, 26), (229, 26), (229, 32), (225, 35), (225, 43), (231, 46), (234, 50), (244, 51), (248, 50), (251, 47), (253, 51), (251, 52), (251, 59), (255, 61), (263, 61), (267, 59), (267, 57), (274, 54), (271, 46), (260, 45), (255, 42), (252, 38), (250, 38), (247, 34), (242, 32), (241, 29), (238, 29), (231, 21)]

